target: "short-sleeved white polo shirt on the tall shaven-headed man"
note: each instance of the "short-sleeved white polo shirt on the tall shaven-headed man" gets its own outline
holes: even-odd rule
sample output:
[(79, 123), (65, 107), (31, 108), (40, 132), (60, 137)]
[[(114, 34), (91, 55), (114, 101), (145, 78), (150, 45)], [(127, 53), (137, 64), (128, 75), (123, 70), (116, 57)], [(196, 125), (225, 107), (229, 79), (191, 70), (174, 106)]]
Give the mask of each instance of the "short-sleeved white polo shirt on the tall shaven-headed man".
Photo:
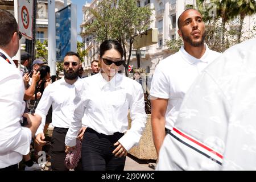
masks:
[[(185, 93), (201, 71), (221, 55), (205, 44), (206, 51), (200, 59), (189, 55), (184, 47), (168, 56), (156, 66), (152, 78), (150, 95), (168, 99), (166, 110), (166, 128), (172, 129), (180, 110)], [(152, 99), (152, 98), (151, 98)]]

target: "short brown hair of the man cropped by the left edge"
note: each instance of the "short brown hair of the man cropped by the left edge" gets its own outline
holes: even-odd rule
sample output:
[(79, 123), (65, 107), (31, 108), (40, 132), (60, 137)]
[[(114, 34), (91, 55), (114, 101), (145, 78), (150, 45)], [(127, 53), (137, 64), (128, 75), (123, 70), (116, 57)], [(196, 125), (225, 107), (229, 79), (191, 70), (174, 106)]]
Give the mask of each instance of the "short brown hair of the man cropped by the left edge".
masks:
[(14, 32), (18, 32), (18, 24), (14, 16), (6, 10), (0, 9), (0, 47), (10, 43)]

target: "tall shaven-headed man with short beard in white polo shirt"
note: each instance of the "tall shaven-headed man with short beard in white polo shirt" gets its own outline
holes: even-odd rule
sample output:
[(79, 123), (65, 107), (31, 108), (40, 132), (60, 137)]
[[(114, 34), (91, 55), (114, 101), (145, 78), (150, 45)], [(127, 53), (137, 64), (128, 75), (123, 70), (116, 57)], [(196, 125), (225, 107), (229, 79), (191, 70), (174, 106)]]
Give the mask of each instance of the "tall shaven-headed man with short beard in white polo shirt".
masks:
[(178, 19), (178, 27), (184, 46), (160, 61), (150, 90), (152, 134), (158, 155), (166, 135), (165, 129), (174, 127), (189, 86), (210, 62), (220, 56), (204, 44), (205, 25), (197, 10), (185, 10)]

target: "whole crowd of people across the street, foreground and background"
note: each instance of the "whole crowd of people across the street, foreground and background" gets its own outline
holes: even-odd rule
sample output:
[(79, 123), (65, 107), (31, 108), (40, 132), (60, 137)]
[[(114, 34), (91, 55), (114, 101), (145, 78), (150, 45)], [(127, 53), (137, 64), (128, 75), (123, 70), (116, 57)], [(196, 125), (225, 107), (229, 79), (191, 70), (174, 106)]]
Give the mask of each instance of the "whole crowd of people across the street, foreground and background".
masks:
[(67, 52), (64, 77), (52, 82), (44, 61), (32, 61), (30, 72), (31, 55), (15, 57), (22, 34), (14, 16), (0, 10), (0, 23), (0, 171), (18, 170), (22, 159), (25, 170), (42, 169), (30, 146), (42, 151), (49, 123), (52, 170), (69, 170), (67, 154), (81, 141), (75, 170), (123, 171), (146, 125), (146, 93), (156, 170), (255, 169), (256, 39), (212, 51), (202, 15), (187, 9), (177, 20), (183, 46), (160, 61), (147, 90), (142, 69), (134, 79), (118, 73), (124, 60), (117, 40), (101, 43), (90, 76), (80, 56)]

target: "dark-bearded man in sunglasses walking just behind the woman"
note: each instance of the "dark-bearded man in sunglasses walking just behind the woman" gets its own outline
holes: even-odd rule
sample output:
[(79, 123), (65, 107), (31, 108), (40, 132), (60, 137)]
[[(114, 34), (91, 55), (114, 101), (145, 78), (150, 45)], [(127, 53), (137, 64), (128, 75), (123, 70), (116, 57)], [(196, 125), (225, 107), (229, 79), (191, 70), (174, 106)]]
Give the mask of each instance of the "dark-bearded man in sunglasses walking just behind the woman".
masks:
[[(35, 110), (35, 113), (43, 118), (42, 124), (36, 131), (36, 143), (45, 144), (43, 133), (45, 118), (49, 108), (52, 106), (52, 125), (54, 129), (49, 155), (51, 156), (51, 168), (55, 171), (69, 170), (64, 164), (66, 157), (64, 141), (71, 125), (69, 117), (73, 114), (74, 107), (72, 103), (75, 98), (75, 86), (80, 80), (79, 69), (81, 63), (79, 55), (76, 52), (67, 52), (64, 57), (63, 67), (64, 77), (46, 87)], [(84, 130), (81, 132), (84, 132)]]

